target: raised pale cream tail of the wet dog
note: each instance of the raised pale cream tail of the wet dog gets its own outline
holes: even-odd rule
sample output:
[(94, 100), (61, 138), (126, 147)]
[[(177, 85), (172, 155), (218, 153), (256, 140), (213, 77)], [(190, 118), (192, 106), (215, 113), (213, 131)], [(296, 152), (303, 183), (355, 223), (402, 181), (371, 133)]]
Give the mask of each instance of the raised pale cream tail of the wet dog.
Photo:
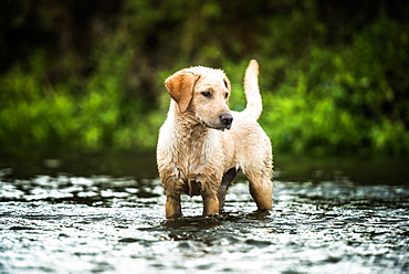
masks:
[(263, 104), (259, 89), (259, 63), (255, 60), (251, 60), (248, 68), (245, 70), (244, 94), (248, 104), (243, 113), (247, 116), (259, 119), (261, 112), (263, 110)]

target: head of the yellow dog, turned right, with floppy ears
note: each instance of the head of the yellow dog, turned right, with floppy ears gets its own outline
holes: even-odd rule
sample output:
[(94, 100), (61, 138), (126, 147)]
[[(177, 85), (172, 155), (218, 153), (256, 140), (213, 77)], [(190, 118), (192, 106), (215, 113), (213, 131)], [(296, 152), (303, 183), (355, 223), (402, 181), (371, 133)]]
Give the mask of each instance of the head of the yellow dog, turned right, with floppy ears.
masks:
[(220, 70), (196, 66), (181, 70), (165, 81), (180, 114), (192, 113), (204, 126), (230, 129), (233, 116), (229, 109), (231, 86)]

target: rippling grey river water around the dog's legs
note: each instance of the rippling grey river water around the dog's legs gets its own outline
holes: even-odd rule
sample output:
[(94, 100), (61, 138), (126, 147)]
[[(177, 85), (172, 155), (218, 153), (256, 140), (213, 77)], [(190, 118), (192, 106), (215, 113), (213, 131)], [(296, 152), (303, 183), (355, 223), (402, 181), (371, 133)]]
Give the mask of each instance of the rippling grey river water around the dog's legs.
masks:
[[(201, 200), (183, 196), (185, 217), (165, 220), (151, 156), (3, 158), (0, 273), (409, 272), (400, 164), (292, 162), (277, 167), (270, 215), (252, 213), (239, 178), (226, 214), (200, 217)], [(353, 180), (359, 170), (371, 172)]]

